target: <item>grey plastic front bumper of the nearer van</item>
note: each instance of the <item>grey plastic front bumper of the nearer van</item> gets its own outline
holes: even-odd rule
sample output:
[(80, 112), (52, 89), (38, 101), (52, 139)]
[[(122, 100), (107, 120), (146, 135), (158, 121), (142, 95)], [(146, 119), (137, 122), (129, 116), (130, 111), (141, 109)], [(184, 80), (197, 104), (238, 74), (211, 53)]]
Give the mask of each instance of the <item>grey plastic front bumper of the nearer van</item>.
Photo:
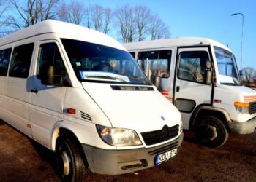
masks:
[(152, 148), (106, 150), (83, 144), (89, 168), (94, 173), (118, 175), (132, 173), (154, 166), (154, 158), (175, 148), (180, 148), (183, 132), (175, 141)]

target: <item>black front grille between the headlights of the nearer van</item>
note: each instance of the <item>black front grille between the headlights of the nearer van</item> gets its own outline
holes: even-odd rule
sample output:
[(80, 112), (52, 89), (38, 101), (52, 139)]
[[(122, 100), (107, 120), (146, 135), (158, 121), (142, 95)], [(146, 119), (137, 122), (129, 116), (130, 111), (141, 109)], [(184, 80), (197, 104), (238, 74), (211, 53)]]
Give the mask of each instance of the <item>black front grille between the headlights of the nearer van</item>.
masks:
[(141, 133), (146, 145), (153, 145), (156, 143), (161, 143), (163, 141), (175, 138), (178, 135), (178, 124), (173, 127), (163, 127), (162, 130), (155, 130), (153, 132), (142, 132)]

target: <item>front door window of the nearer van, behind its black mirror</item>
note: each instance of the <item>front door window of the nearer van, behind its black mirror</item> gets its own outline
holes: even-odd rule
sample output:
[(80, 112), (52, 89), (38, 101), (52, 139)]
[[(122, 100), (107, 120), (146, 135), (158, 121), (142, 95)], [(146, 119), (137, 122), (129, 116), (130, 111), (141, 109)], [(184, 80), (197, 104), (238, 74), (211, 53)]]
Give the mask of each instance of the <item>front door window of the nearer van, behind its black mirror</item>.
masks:
[(55, 43), (41, 44), (37, 60), (37, 78), (41, 79), (42, 73), (48, 66), (55, 66), (56, 75), (65, 74), (65, 66), (58, 46)]

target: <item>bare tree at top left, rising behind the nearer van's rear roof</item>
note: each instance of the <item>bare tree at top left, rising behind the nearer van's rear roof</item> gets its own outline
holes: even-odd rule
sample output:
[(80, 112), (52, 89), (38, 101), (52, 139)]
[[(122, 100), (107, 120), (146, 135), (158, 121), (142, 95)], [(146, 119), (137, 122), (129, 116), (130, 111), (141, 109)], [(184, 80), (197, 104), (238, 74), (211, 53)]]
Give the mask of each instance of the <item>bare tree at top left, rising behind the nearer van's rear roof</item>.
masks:
[(21, 29), (34, 25), (42, 20), (52, 19), (56, 16), (55, 7), (59, 0), (27, 0), (20, 3), (18, 0), (10, 0), (14, 11), (10, 12), (4, 25), (15, 29)]

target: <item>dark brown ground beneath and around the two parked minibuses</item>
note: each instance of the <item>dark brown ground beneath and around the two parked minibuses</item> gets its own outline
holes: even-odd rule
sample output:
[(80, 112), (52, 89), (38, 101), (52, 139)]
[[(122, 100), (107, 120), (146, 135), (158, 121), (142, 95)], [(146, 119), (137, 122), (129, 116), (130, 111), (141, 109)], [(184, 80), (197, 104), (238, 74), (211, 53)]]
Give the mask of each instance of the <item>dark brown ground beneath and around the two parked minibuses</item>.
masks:
[[(0, 121), (0, 181), (60, 181), (53, 153)], [(87, 174), (87, 181), (256, 181), (256, 133), (230, 134), (219, 149), (196, 143), (184, 132), (177, 157), (138, 175)]]

